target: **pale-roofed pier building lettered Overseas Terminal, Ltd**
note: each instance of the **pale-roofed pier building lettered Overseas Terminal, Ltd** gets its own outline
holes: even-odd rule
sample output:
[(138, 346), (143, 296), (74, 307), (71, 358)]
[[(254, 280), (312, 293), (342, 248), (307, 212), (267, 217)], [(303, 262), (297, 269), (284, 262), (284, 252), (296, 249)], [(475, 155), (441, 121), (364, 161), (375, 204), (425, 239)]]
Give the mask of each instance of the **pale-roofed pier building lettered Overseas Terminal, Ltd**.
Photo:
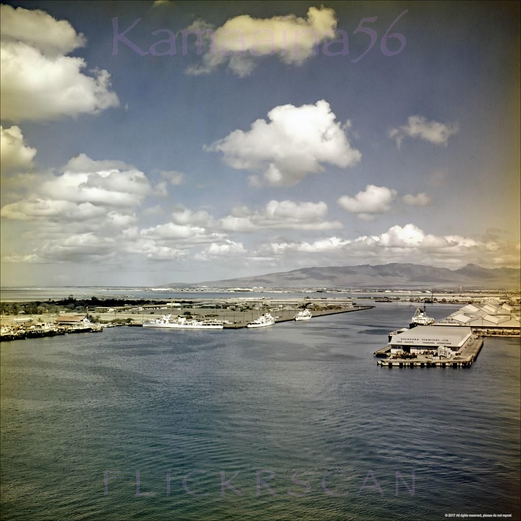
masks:
[(391, 354), (430, 352), (450, 357), (459, 353), (471, 339), (472, 330), (469, 327), (417, 326), (394, 334), (389, 344)]

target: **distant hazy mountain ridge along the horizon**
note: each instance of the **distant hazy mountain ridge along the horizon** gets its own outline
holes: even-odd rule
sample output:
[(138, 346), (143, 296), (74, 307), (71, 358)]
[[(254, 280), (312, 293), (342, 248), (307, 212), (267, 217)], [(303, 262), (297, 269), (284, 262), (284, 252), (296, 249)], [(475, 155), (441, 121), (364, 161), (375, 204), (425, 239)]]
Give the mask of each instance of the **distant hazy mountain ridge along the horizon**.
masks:
[(377, 266), (326, 266), (300, 268), (254, 277), (204, 281), (196, 284), (170, 282), (169, 287), (211, 286), (214, 288), (253, 286), (265, 288), (466, 288), (519, 289), (521, 270), (482, 268), (435, 268), (418, 264), (391, 263)]

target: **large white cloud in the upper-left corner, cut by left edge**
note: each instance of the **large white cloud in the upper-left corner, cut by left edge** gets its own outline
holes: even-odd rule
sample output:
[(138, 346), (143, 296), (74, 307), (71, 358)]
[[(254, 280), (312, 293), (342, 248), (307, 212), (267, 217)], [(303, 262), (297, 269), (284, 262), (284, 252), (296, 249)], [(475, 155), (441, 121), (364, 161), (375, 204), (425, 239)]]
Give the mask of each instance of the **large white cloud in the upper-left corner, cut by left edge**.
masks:
[(8, 5), (0, 6), (0, 19), (3, 119), (54, 120), (119, 105), (106, 70), (88, 76), (83, 58), (66, 56), (85, 43), (69, 22)]

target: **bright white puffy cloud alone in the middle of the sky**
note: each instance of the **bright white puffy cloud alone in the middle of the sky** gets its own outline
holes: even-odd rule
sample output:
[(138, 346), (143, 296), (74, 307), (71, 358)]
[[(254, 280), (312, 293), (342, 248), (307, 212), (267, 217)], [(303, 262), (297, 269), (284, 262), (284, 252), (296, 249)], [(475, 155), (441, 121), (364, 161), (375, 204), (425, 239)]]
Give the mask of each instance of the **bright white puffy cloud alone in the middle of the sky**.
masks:
[[(234, 130), (206, 151), (221, 152), (232, 168), (259, 172), (272, 186), (298, 183), (309, 173), (325, 170), (323, 164), (351, 167), (361, 153), (346, 136), (324, 100), (315, 105), (282, 105), (268, 113), (268, 121), (257, 119), (249, 131)], [(254, 176), (258, 183), (259, 179)]]

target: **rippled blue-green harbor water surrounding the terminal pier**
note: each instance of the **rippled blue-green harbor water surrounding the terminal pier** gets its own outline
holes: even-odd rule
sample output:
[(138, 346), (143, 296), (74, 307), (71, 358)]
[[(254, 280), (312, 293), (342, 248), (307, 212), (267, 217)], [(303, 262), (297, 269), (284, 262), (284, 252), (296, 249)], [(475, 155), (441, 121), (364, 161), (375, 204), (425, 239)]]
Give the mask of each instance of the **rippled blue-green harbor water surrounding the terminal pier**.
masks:
[(413, 312), (4, 343), (2, 519), (518, 519), (519, 341), (378, 367)]

